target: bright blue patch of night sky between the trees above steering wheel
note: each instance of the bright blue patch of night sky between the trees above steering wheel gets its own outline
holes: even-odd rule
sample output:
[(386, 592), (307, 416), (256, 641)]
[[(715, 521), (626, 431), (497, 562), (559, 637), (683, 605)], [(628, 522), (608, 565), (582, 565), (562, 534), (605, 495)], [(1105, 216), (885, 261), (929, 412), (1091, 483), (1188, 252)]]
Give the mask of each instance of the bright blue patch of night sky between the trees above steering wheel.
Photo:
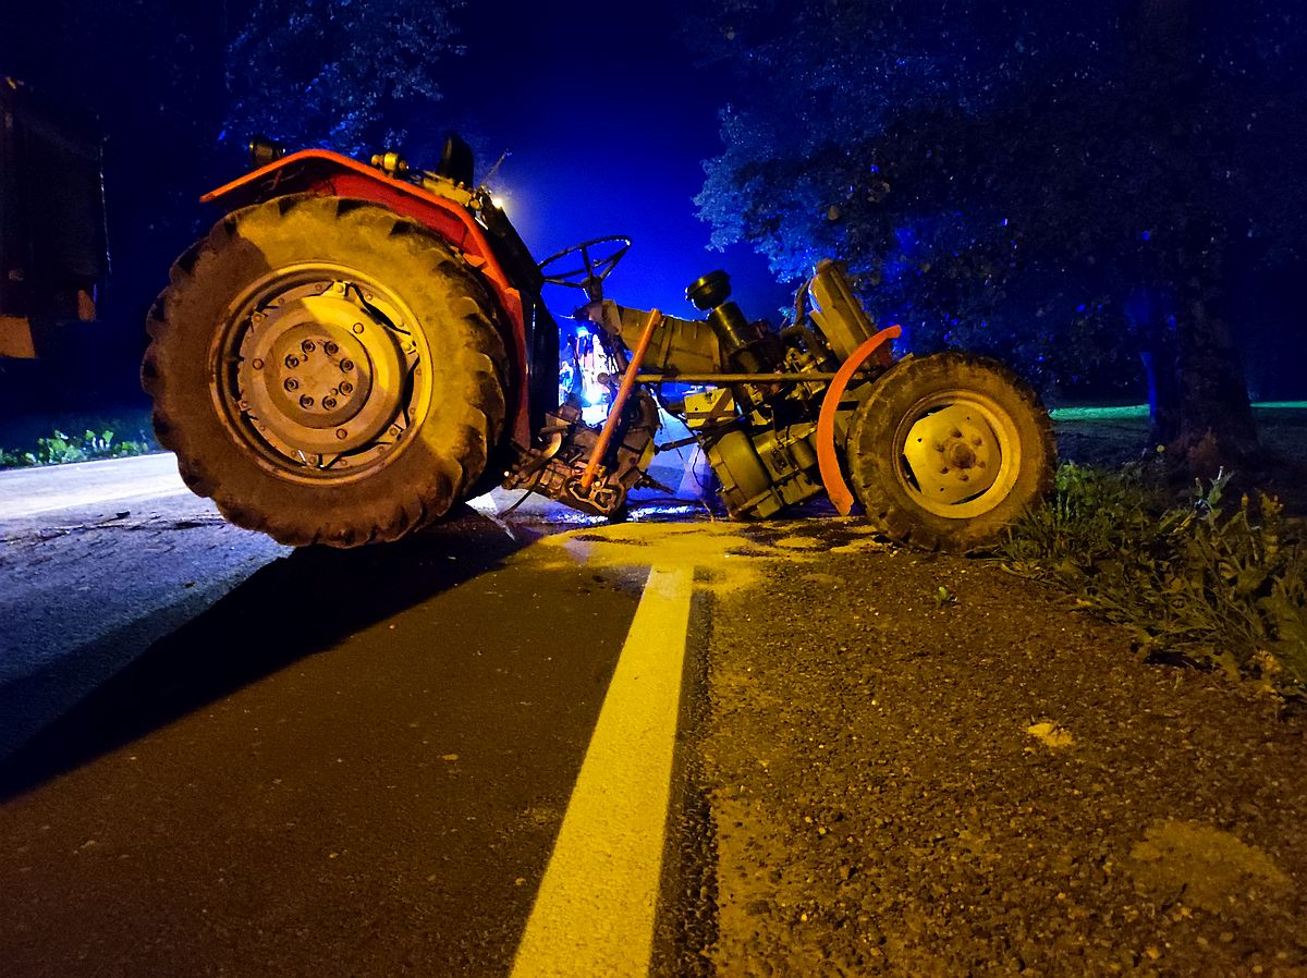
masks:
[[(473, 4), (444, 107), (476, 119), (471, 135), (494, 157), (512, 153), (495, 184), (537, 259), (625, 234), (634, 244), (610, 298), (697, 315), (685, 286), (724, 268), (745, 312), (775, 322), (792, 290), (748, 247), (710, 251), (708, 225), (695, 217), (729, 78), (690, 61), (670, 7), (520, 4), (505, 17)], [(478, 173), (493, 162), (478, 161)], [(550, 292), (561, 312), (580, 294)]]

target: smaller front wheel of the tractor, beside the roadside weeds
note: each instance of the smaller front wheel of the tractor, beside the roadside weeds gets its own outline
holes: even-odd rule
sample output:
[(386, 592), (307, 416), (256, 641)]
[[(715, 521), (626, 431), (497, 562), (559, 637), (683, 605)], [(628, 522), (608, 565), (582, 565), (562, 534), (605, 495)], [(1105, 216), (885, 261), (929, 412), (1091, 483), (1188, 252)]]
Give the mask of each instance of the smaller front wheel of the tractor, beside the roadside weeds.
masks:
[(927, 549), (992, 541), (1053, 476), (1039, 396), (1001, 363), (965, 353), (886, 370), (856, 408), (846, 451), (868, 519)]

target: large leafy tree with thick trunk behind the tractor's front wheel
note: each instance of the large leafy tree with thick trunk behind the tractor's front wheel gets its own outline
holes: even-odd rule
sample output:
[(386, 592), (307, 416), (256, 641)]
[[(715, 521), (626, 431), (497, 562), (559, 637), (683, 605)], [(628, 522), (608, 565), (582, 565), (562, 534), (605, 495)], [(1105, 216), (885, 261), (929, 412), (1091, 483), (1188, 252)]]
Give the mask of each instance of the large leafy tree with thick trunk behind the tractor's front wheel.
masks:
[(915, 346), (995, 352), (1046, 390), (1146, 354), (1157, 435), (1236, 460), (1256, 433), (1222, 289), (1303, 252), (1303, 191), (1264, 157), (1307, 122), (1303, 17), (1030, 7), (723, 0), (710, 54), (770, 82), (723, 111), (701, 216), (788, 277), (847, 259)]

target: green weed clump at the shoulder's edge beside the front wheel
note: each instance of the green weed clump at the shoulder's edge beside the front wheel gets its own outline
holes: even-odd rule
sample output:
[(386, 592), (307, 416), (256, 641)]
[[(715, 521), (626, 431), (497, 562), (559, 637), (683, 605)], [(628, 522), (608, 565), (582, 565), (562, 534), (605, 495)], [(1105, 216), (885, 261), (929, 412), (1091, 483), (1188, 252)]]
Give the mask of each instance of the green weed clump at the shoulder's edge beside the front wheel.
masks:
[(1138, 477), (1063, 465), (1056, 492), (1000, 548), (1081, 607), (1129, 629), (1145, 654), (1182, 658), (1307, 694), (1307, 541), (1277, 499), (1227, 506), (1221, 473), (1161, 507)]

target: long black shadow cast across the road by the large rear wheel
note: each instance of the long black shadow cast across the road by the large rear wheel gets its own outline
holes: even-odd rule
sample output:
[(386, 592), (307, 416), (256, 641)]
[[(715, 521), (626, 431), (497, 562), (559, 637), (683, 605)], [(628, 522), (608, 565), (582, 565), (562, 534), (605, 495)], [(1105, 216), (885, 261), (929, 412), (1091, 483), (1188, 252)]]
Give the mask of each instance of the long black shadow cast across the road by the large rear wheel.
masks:
[[(140, 642), (141, 633), (158, 634), (158, 628), (136, 622), (88, 643), (56, 667), (0, 688), (0, 715), (35, 717), (30, 728), (39, 730), (0, 760), (0, 801), (494, 570), (535, 539), (520, 527), (508, 535), (465, 509), (455, 520), (395, 544), (295, 550), (137, 655), (124, 654), (122, 645)], [(47, 723), (50, 717), (39, 715), (43, 709), (59, 713), (42, 703), (58, 702), (61, 684), (76, 686), (80, 679), (85, 685), (97, 663), (115, 659), (129, 664), (58, 719)]]

